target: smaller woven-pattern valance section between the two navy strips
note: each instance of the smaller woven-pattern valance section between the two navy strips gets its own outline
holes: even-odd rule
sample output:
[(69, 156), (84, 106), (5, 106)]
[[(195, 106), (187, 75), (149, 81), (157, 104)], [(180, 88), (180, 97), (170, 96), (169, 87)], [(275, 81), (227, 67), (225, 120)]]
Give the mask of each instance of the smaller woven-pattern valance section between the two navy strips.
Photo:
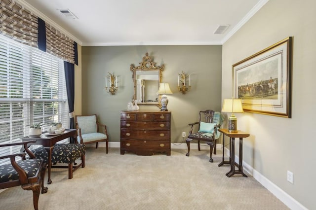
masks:
[(46, 26), (46, 52), (69, 63), (75, 63), (74, 40), (56, 30), (48, 23)]

